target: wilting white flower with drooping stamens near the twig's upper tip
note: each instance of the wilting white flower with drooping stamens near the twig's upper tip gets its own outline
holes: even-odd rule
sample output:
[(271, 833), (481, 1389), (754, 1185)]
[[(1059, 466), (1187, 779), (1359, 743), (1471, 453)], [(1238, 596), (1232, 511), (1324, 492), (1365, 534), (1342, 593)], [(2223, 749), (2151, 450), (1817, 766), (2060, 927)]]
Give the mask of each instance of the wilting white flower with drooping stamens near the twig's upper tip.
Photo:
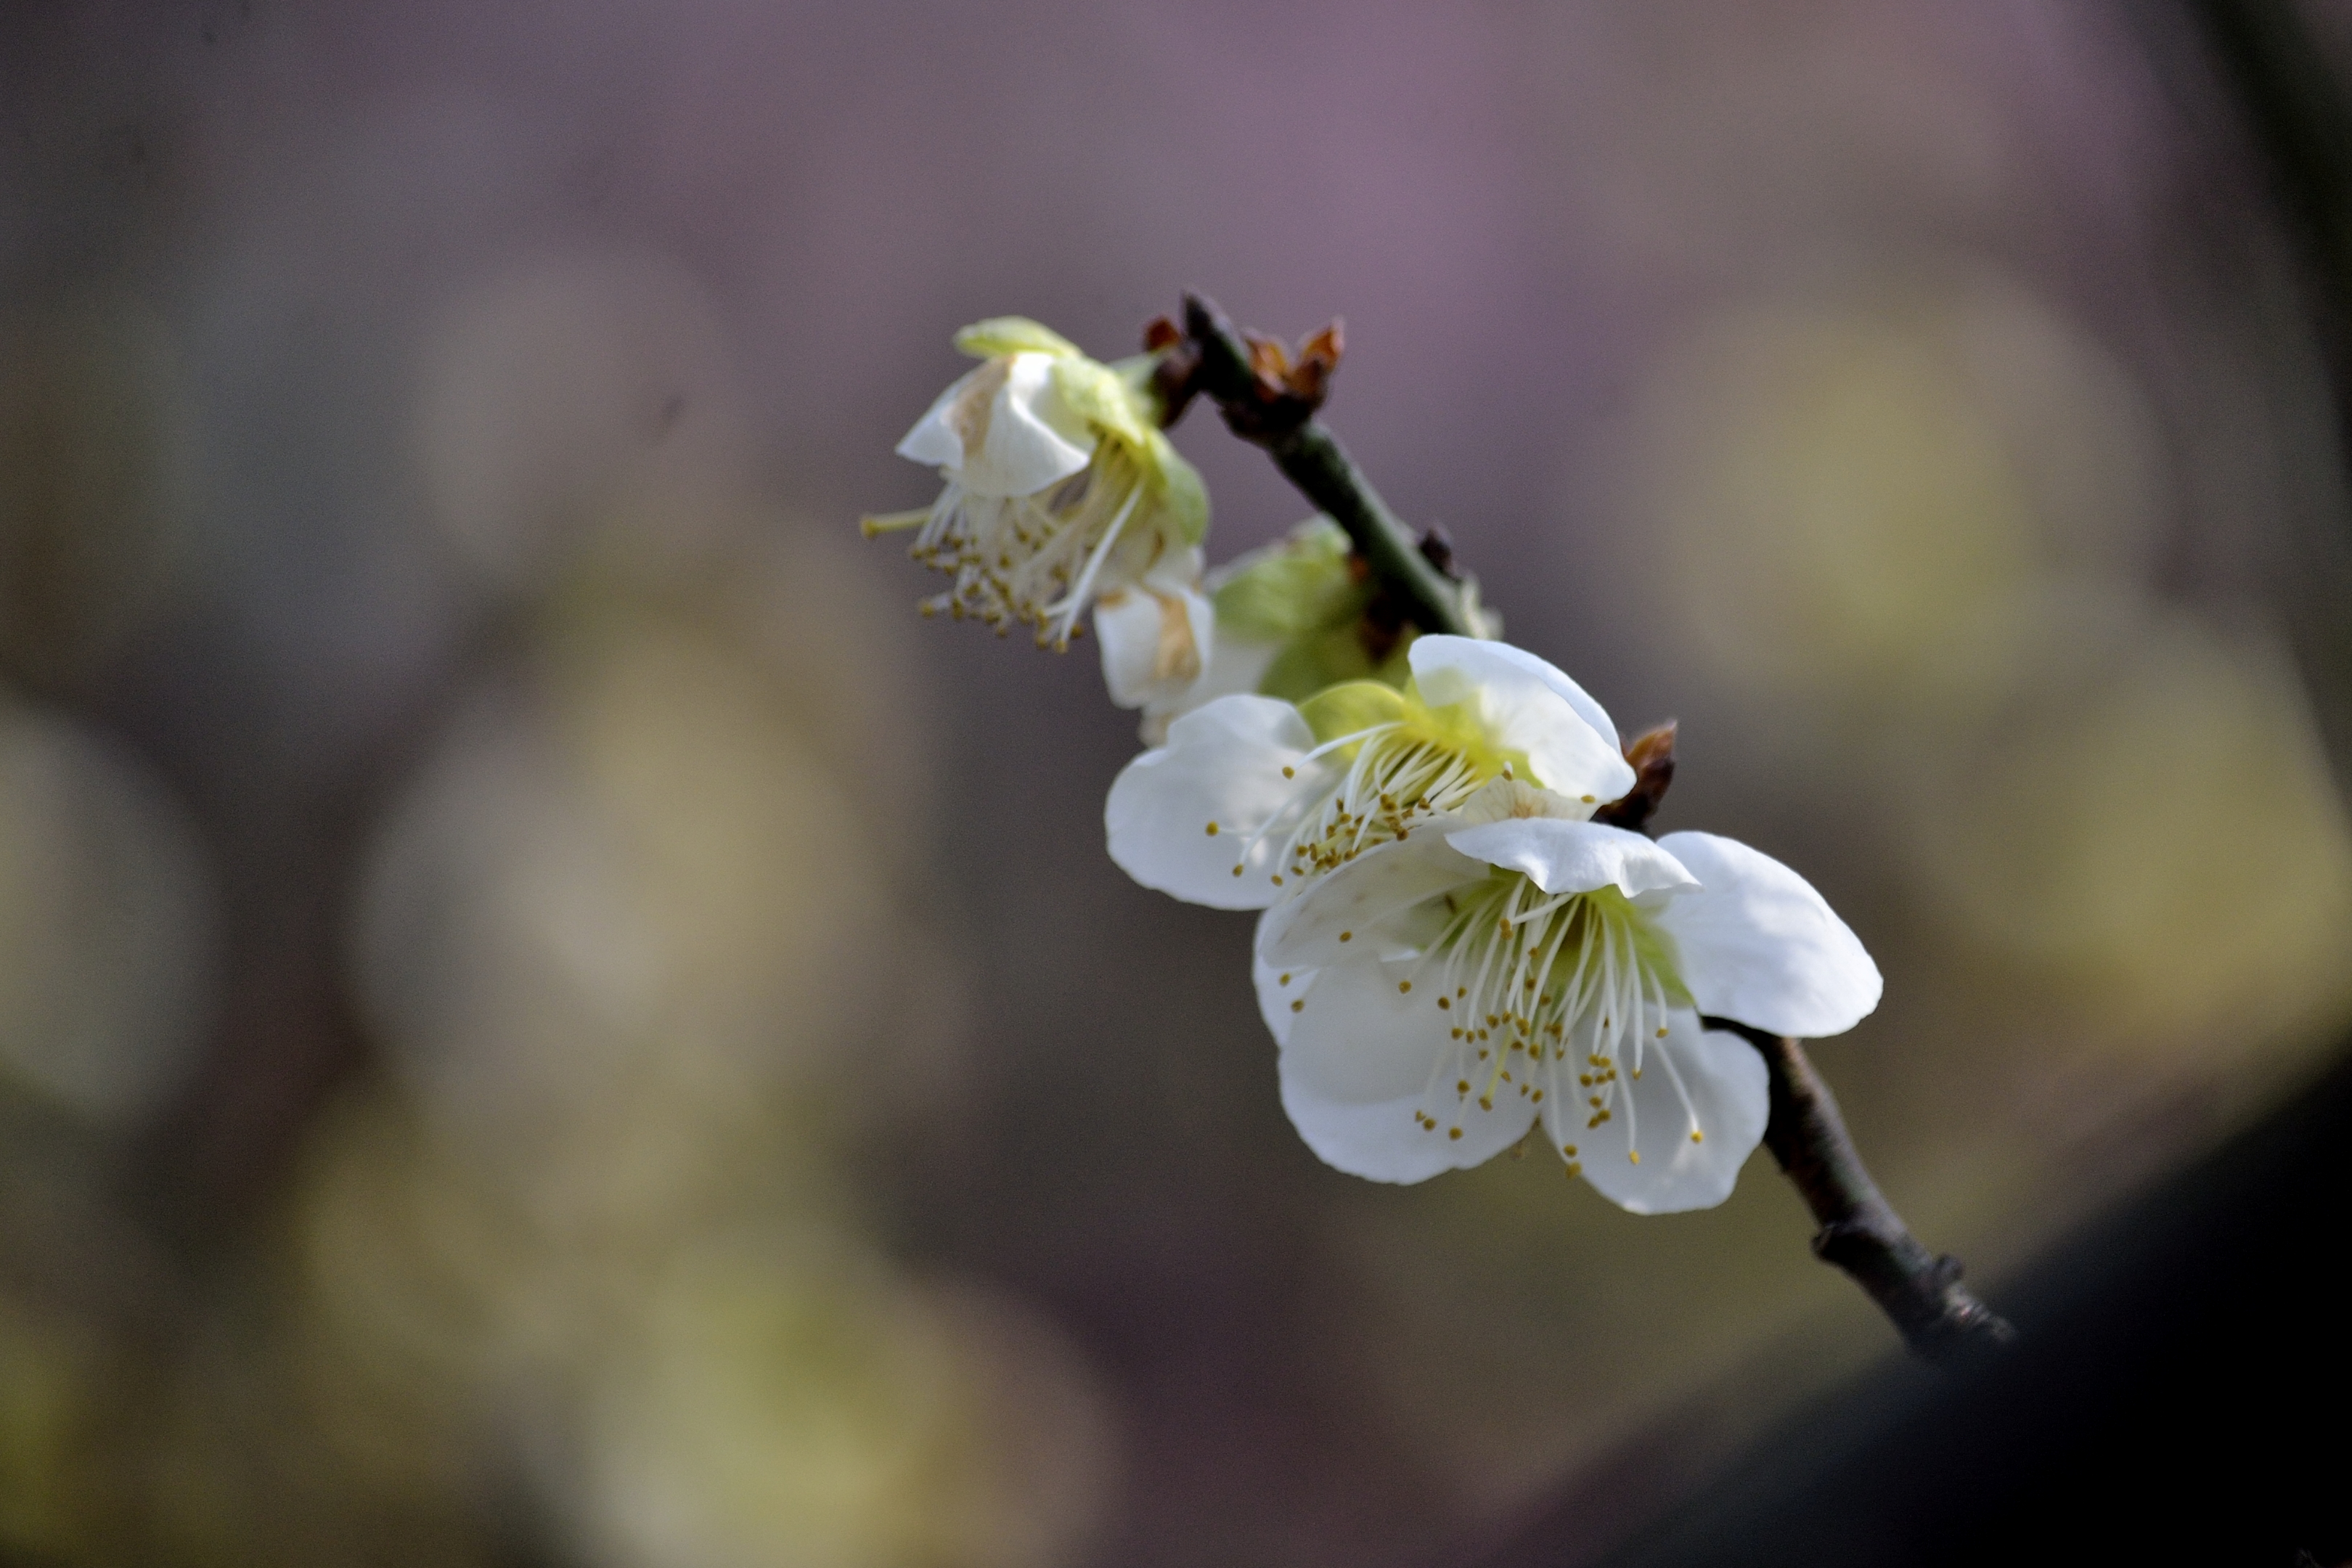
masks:
[[(863, 524), (917, 529), (915, 559), (955, 578), (924, 614), (976, 616), (997, 632), (1030, 625), (1042, 646), (1063, 649), (1101, 599), (1120, 623), (1120, 651), (1103, 661), (1115, 698), (1138, 705), (1197, 679), (1211, 625), (1200, 595), (1209, 496), (1160, 430), (1155, 360), (1098, 364), (1011, 315), (964, 327), (955, 346), (985, 364), (898, 442), (946, 489), (929, 508)], [(1148, 635), (1127, 595), (1141, 595)]]

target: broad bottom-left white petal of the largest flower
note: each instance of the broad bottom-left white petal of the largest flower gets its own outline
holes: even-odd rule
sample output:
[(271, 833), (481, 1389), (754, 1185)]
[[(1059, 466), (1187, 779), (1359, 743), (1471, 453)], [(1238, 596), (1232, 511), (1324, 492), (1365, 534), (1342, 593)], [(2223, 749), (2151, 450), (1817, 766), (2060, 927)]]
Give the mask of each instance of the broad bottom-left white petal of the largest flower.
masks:
[(1381, 964), (1322, 969), (1303, 1001), (1282, 1044), (1282, 1110), (1324, 1164), (1418, 1182), (1501, 1154), (1536, 1121), (1510, 1088), (1494, 1110), (1456, 1091), (1465, 1070), (1446, 1013), (1402, 994)]

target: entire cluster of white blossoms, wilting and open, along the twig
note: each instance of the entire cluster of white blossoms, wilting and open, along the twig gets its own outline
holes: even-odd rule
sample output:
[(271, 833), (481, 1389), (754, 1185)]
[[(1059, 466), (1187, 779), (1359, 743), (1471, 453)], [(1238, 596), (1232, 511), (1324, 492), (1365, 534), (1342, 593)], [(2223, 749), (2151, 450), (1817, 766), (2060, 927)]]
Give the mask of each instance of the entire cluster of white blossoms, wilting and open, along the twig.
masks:
[[(1566, 1173), (1623, 1208), (1724, 1201), (1764, 1135), (1766, 1070), (1705, 1020), (1823, 1037), (1879, 1001), (1820, 893), (1731, 839), (1595, 820), (1635, 766), (1602, 705), (1534, 654), (1425, 635), (1374, 658), (1336, 527), (1204, 578), (1185, 520), (1207, 508), (1141, 477), (1178, 461), (1148, 371), (1068, 371), (1091, 362), (1025, 322), (962, 341), (997, 357), (901, 444), (948, 480), (917, 552), (957, 574), (950, 609), (1051, 639), (1094, 595), (1112, 696), (1145, 708), (1155, 741), (1110, 788), (1110, 858), (1188, 903), (1261, 910), (1258, 1006), (1308, 1147), (1418, 1182), (1541, 1124)], [(1122, 421), (1054, 390), (1096, 374), (1129, 388)], [(1054, 458), (1018, 475), (1035, 484), (1007, 489), (990, 442), (1042, 454), (1047, 437)]]

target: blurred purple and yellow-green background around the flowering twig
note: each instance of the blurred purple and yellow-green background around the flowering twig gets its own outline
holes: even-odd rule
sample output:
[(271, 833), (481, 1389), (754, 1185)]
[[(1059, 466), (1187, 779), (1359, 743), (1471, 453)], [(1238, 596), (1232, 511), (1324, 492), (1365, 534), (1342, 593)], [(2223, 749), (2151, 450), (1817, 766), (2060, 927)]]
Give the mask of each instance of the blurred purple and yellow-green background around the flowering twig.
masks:
[[(2352, 1020), (2347, 49), (2284, 2), (9, 5), (0, 1556), (1999, 1542), (2230, 1382), (2199, 1335), (2324, 1396), (2183, 1446), (2340, 1443), (2265, 1293), (2340, 1298), (2211, 1246), (2345, 1227), (2298, 1150)], [(1112, 357), (1185, 287), (1348, 317), (1350, 449), (1515, 642), (1682, 719), (1668, 827), (1860, 931), (1886, 1004), (1816, 1058), (1865, 1154), (2105, 1382), (1903, 1368), (1764, 1157), (1639, 1220), (1298, 1145), (1249, 922), (1101, 851), (1091, 658), (920, 623), (854, 529), (934, 494), (891, 444), (955, 327)], [(1178, 444), (1211, 559), (1301, 517)], [(2077, 1448), (1938, 1481), (2020, 1429)]]

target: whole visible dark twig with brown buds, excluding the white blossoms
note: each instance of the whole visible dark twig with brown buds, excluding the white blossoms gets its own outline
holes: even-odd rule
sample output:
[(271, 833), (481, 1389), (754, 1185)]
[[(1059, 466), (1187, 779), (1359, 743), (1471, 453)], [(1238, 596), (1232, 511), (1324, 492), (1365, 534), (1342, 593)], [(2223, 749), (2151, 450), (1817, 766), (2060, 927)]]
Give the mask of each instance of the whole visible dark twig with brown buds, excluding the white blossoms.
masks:
[[(1174, 336), (1155, 324), (1150, 341), (1164, 348)], [(1188, 294), (1183, 348), (1171, 360), (1176, 374), (1162, 388), (1169, 414), (1181, 414), (1195, 393), (1214, 402), (1235, 435), (1265, 447), (1282, 475), (1348, 529), (1357, 555), (1421, 630), (1477, 635), (1465, 614), (1463, 583), (1430, 562), (1414, 531), (1388, 510), (1338, 440), (1315, 418), (1338, 357), (1336, 329), (1324, 336), (1327, 360), (1315, 374), (1291, 374), (1284, 381), (1277, 374), (1287, 369), (1279, 348), (1268, 348), (1263, 339), (1244, 341), (1211, 301)], [(1256, 357), (1251, 348), (1258, 350)], [(1628, 797), (1618, 802), (1625, 811), (1613, 820), (1646, 830), (1646, 818), (1672, 778), (1672, 726), (1644, 736), (1637, 748), (1644, 764), (1639, 809)], [(1959, 1260), (1926, 1251), (1879, 1194), (1846, 1135), (1830, 1086), (1813, 1072), (1804, 1048), (1795, 1039), (1726, 1018), (1703, 1023), (1731, 1030), (1764, 1056), (1771, 1084), (1764, 1145), (1820, 1222), (1813, 1255), (1851, 1274), (1903, 1333), (1903, 1342), (1929, 1361), (1966, 1361), (2009, 1345), (2016, 1328), (1959, 1284)]]

